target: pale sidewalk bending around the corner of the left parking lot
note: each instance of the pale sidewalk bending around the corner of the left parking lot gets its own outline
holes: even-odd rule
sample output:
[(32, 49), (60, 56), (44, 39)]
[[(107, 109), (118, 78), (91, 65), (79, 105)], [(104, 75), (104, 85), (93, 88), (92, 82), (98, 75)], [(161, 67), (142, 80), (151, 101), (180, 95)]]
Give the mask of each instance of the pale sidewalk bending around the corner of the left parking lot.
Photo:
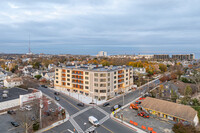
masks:
[[(44, 94), (44, 93), (43, 93), (43, 95), (45, 95), (46, 97), (48, 97), (49, 99), (51, 99), (52, 101), (54, 101), (54, 102), (55, 102), (58, 106), (60, 106), (61, 108), (65, 109), (65, 108), (62, 107), (58, 102), (56, 102), (53, 98), (49, 97), (48, 95), (46, 95), (46, 94)], [(67, 112), (66, 109), (65, 109), (65, 112), (66, 112), (66, 113), (65, 113), (65, 114), (66, 114), (66, 118), (65, 118), (64, 120), (57, 121), (57, 122), (51, 124), (51, 125), (48, 126), (48, 127), (45, 127), (45, 128), (42, 128), (42, 129), (36, 131), (35, 133), (43, 133), (43, 132), (45, 132), (45, 131), (48, 131), (48, 130), (50, 130), (50, 129), (52, 129), (52, 128), (54, 128), (54, 127), (56, 127), (56, 126), (58, 126), (58, 125), (61, 125), (61, 124), (65, 123), (66, 121), (68, 121), (68, 120), (69, 120), (69, 113)]]

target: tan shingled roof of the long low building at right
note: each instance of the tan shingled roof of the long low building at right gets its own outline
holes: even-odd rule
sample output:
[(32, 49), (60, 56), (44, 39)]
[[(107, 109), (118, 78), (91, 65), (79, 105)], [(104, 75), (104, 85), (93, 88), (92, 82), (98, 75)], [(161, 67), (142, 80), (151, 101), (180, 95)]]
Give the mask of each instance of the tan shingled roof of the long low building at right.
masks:
[(197, 114), (197, 111), (190, 106), (151, 97), (147, 97), (141, 105), (144, 108), (158, 111), (166, 115), (175, 116), (177, 118), (182, 118), (187, 121), (193, 121)]

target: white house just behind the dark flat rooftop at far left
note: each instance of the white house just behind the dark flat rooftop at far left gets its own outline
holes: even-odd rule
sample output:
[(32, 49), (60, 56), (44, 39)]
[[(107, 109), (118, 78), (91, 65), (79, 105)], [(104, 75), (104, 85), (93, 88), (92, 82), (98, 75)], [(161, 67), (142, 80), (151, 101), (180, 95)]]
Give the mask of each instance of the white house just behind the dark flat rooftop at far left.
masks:
[(7, 88), (12, 88), (15, 86), (20, 86), (23, 84), (22, 78), (16, 77), (16, 78), (7, 78), (4, 80), (4, 86)]

